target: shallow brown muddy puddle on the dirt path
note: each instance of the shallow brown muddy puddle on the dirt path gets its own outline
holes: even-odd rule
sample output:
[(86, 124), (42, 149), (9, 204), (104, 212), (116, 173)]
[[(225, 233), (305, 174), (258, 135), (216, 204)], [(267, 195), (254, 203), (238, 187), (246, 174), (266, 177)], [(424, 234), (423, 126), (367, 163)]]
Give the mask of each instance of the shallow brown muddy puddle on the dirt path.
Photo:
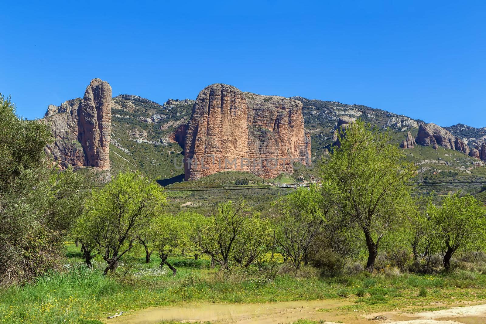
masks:
[(318, 309), (352, 304), (348, 301), (320, 300), (265, 304), (186, 304), (177, 307), (153, 307), (106, 320), (106, 323), (141, 324), (163, 320), (211, 323), (292, 323), (300, 319), (326, 320), (330, 313)]

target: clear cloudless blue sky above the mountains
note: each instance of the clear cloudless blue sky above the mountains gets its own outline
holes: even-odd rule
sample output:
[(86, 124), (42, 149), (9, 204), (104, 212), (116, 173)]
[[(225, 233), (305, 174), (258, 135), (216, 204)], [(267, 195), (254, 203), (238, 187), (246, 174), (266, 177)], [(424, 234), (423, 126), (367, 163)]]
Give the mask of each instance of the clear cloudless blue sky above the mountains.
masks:
[(0, 92), (17, 113), (82, 97), (195, 99), (212, 83), (486, 126), (484, 1), (8, 1)]

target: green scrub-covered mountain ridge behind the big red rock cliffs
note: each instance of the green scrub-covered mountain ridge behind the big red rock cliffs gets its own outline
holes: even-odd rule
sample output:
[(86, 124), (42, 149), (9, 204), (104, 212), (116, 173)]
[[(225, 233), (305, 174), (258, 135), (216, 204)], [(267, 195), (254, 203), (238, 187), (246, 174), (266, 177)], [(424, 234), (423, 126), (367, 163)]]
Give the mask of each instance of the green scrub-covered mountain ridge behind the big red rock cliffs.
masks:
[[(250, 92), (243, 92), (243, 94), (248, 98), (260, 98), (263, 103), (272, 101), (273, 98), (285, 98)], [(440, 173), (445, 169), (451, 172), (459, 170), (459, 172), (465, 174), (474, 173), (476, 171), (473, 169), (482, 165), (481, 161), (478, 162), (477, 160), (483, 159), (483, 156), (486, 159), (486, 147), (485, 150), (482, 150), (482, 144), (484, 144), (486, 138), (486, 127), (475, 128), (461, 123), (449, 127), (437, 126), (441, 131), (446, 132), (444, 134), (451, 134), (446, 137), (454, 138), (454, 140), (452, 144), (451, 140), (448, 141), (449, 147), (447, 145), (445, 147), (432, 145), (437, 149), (433, 153), (434, 151), (424, 150), (425, 146), (420, 145), (423, 143), (415, 143), (419, 136), (420, 125), (431, 124), (425, 123), (421, 119), (413, 119), (405, 115), (360, 104), (307, 99), (301, 96), (293, 96), (287, 99), (302, 103), (304, 127), (309, 130), (311, 138), (311, 159), (313, 163), (319, 163), (321, 156), (329, 152), (336, 123), (342, 116), (359, 118), (382, 130), (390, 131), (392, 141), (397, 145), (404, 141), (408, 141), (409, 144), (413, 143), (414, 145), (410, 145), (410, 148), (407, 145), (404, 152), (417, 165), (422, 166), (421, 169), (429, 168), (424, 171), (426, 173), (427, 171)], [(81, 98), (77, 98), (63, 104), (66, 106), (66, 104), (75, 104), (75, 102), (81, 100)], [(111, 170), (114, 172), (137, 170), (152, 178), (161, 177), (164, 179), (184, 173), (184, 169), (181, 168), (183, 167), (182, 160), (186, 141), (184, 134), (193, 113), (194, 103), (195, 101), (191, 99), (168, 99), (160, 104), (132, 94), (120, 94), (112, 97), (109, 147)], [(46, 115), (65, 113), (61, 108), (62, 105), (49, 105)], [(435, 141), (441, 143), (440, 140)], [(447, 161), (452, 156), (451, 153), (447, 152), (451, 147), (460, 147), (459, 151), (463, 154), (466, 153), (467, 147), (469, 155), (467, 155), (468, 153), (464, 155), (455, 155), (454, 153), (452, 155), (458, 161)], [(436, 156), (437, 154), (441, 155)], [(437, 161), (437, 163), (425, 163), (423, 161)], [(440, 161), (447, 161), (447, 164)], [(444, 166), (447, 166), (447, 168)], [(468, 170), (470, 168), (473, 168), (472, 171)], [(479, 176), (482, 176), (482, 174), (479, 174)]]

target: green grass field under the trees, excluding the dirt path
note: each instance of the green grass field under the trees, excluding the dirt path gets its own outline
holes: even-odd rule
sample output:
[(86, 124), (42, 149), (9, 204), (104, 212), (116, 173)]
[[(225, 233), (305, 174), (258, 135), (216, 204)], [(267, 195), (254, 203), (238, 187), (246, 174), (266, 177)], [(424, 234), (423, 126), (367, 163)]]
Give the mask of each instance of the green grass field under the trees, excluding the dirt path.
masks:
[(449, 275), (382, 271), (319, 278), (315, 269), (304, 268), (295, 277), (278, 264), (276, 273), (252, 268), (222, 274), (210, 269), (207, 259), (179, 256), (170, 259), (178, 269), (173, 276), (166, 267), (158, 268), (158, 256), (153, 255), (148, 264), (142, 258), (133, 258), (116, 273), (104, 277), (104, 264), (97, 260), (94, 269), (87, 269), (74, 244), (68, 245), (67, 255), (63, 272), (25, 286), (0, 288), (0, 323), (99, 323), (106, 314), (119, 310), (188, 301), (347, 299), (352, 305), (340, 310), (352, 312), (486, 299), (486, 275), (464, 270)]

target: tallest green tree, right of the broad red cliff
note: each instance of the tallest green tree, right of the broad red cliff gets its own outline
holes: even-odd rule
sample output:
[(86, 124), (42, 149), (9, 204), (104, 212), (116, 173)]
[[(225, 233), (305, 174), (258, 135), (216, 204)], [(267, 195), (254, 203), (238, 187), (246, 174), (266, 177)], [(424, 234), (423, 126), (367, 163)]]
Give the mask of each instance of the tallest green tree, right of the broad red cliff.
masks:
[(405, 220), (408, 204), (403, 200), (409, 200), (407, 183), (416, 172), (390, 141), (388, 133), (358, 120), (338, 132), (340, 145), (322, 166), (324, 192), (340, 215), (363, 232), (367, 271), (373, 271), (383, 237)]

